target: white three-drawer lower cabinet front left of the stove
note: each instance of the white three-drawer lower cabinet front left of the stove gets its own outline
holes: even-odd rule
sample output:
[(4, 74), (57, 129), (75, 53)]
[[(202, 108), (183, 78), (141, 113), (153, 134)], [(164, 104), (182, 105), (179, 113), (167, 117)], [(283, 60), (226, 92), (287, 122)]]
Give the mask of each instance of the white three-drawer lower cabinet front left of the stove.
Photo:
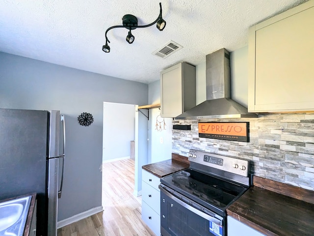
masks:
[(160, 236), (160, 179), (142, 170), (142, 220)]

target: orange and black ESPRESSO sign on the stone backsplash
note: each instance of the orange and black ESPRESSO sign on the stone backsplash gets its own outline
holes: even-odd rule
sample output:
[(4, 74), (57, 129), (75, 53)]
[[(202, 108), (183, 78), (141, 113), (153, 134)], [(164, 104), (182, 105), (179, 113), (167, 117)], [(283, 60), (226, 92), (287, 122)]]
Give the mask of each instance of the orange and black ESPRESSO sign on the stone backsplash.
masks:
[(200, 138), (249, 142), (249, 122), (198, 123)]

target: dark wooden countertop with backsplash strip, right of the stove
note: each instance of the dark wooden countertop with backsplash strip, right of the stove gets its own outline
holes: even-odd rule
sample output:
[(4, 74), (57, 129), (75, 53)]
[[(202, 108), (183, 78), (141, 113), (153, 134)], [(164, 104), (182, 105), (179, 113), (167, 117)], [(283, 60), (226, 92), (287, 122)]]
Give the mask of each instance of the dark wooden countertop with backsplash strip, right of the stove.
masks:
[(314, 236), (314, 191), (253, 176), (228, 215), (267, 236)]

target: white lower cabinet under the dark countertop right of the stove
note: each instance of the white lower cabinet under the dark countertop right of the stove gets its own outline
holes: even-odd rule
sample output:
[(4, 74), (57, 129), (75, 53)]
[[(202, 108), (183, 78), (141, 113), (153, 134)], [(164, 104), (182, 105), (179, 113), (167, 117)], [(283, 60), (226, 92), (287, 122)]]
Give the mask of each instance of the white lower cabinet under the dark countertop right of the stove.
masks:
[(227, 217), (227, 228), (228, 236), (265, 236), (229, 215)]

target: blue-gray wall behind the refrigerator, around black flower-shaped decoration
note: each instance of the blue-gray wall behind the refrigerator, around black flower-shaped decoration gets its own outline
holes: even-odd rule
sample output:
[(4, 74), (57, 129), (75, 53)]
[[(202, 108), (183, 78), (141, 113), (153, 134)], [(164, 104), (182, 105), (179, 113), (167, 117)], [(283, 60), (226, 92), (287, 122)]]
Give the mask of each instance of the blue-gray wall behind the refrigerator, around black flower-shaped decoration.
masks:
[[(104, 101), (146, 105), (148, 85), (0, 52), (1, 108), (65, 114), (66, 167), (58, 221), (102, 205)], [(78, 124), (82, 112), (94, 117), (88, 127)]]

